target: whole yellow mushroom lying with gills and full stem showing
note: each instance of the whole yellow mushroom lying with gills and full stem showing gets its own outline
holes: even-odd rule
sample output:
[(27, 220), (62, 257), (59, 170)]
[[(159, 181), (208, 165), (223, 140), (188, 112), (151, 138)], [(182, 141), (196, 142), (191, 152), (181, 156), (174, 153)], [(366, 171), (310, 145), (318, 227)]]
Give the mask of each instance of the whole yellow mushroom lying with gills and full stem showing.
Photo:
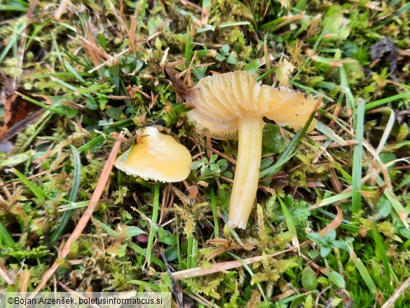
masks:
[[(197, 130), (216, 138), (238, 136), (228, 225), (246, 229), (258, 189), (264, 116), (280, 126), (300, 129), (317, 100), (289, 88), (260, 85), (254, 74), (243, 71), (201, 79), (186, 100), (194, 107), (187, 116)], [(313, 128), (315, 120), (309, 130)]]

